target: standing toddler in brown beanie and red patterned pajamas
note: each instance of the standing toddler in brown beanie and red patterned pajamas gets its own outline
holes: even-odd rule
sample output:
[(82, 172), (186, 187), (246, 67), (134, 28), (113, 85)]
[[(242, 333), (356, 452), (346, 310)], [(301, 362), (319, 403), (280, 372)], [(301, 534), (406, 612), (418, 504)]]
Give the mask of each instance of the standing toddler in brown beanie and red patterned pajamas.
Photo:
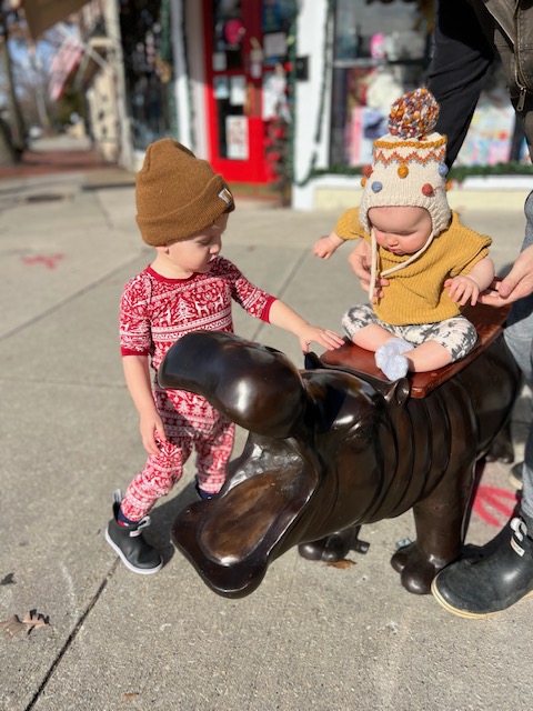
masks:
[(120, 346), (149, 457), (124, 498), (115, 493), (105, 538), (130, 570), (154, 573), (163, 561), (142, 534), (149, 511), (181, 479), (193, 451), (197, 491), (203, 499), (215, 495), (224, 483), (234, 437), (233, 423), (204, 398), (158, 384), (158, 369), (170, 347), (191, 331), (232, 332), (232, 301), (294, 333), (304, 351), (312, 341), (332, 350), (343, 339), (311, 326), (220, 257), (233, 197), (223, 178), (185, 147), (171, 139), (149, 146), (137, 176), (135, 200), (142, 239), (157, 253), (124, 287)]

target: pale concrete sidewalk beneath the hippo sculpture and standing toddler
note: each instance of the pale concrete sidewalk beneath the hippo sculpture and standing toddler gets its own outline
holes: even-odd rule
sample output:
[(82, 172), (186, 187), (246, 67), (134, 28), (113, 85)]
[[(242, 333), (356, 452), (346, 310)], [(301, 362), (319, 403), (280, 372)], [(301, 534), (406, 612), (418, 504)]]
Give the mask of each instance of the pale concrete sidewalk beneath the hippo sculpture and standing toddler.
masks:
[[(87, 172), (0, 181), (0, 358), (3, 363), (0, 621), (27, 610), (50, 629), (0, 637), (0, 708), (22, 711), (511, 711), (531, 693), (533, 603), (480, 622), (401, 585), (389, 560), (414, 537), (411, 514), (363, 527), (366, 555), (339, 569), (292, 550), (242, 600), (211, 592), (173, 550), (170, 524), (194, 499), (192, 469), (152, 514), (165, 565), (130, 573), (103, 539), (112, 493), (144, 462), (118, 348), (123, 283), (151, 259), (133, 188), (99, 189)], [(501, 196), (500, 196), (501, 198)], [(525, 198), (525, 192), (524, 192)], [(512, 263), (523, 214), (497, 196), (463, 220)], [(224, 254), (309, 320), (340, 330), (364, 294), (345, 262), (313, 259), (334, 213), (258, 209), (230, 219)], [(301, 365), (295, 339), (239, 312), (237, 331)], [(516, 457), (530, 417), (514, 417)], [(237, 451), (244, 433), (239, 432)], [(481, 543), (513, 504), (509, 467), (483, 485), (503, 510), (472, 513)], [(486, 503), (486, 500), (485, 500)], [(481, 501), (483, 504), (483, 501)], [(524, 633), (525, 631), (525, 633)]]

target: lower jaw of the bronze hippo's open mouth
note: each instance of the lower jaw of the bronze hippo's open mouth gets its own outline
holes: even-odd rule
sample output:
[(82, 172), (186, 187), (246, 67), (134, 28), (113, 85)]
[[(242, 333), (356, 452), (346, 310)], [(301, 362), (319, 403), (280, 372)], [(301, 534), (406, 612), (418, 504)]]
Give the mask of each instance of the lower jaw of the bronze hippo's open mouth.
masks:
[(248, 595), (269, 562), (294, 544), (291, 531), (312, 497), (312, 479), (286, 470), (245, 479), (219, 499), (181, 511), (173, 541), (214, 592)]

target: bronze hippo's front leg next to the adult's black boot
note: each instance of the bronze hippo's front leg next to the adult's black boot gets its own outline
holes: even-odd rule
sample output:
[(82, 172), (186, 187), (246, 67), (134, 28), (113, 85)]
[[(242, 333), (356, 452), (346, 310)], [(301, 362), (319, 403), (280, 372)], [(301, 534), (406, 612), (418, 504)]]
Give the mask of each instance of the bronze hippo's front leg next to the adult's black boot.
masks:
[(402, 585), (410, 592), (429, 594), (436, 573), (460, 557), (474, 465), (460, 480), (447, 472), (428, 498), (414, 504), (416, 541), (391, 559)]

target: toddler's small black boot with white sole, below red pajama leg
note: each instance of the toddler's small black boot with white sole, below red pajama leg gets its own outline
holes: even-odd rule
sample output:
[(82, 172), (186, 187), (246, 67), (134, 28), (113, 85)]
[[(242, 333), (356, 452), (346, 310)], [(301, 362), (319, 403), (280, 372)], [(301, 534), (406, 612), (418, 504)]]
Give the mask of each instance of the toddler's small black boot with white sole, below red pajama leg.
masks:
[(120, 555), (124, 565), (134, 573), (144, 575), (157, 573), (163, 567), (163, 559), (142, 535), (143, 529), (150, 525), (150, 517), (145, 515), (134, 525), (120, 525), (118, 515), (121, 501), (122, 495), (117, 490), (113, 500), (113, 518), (108, 523), (105, 540)]

